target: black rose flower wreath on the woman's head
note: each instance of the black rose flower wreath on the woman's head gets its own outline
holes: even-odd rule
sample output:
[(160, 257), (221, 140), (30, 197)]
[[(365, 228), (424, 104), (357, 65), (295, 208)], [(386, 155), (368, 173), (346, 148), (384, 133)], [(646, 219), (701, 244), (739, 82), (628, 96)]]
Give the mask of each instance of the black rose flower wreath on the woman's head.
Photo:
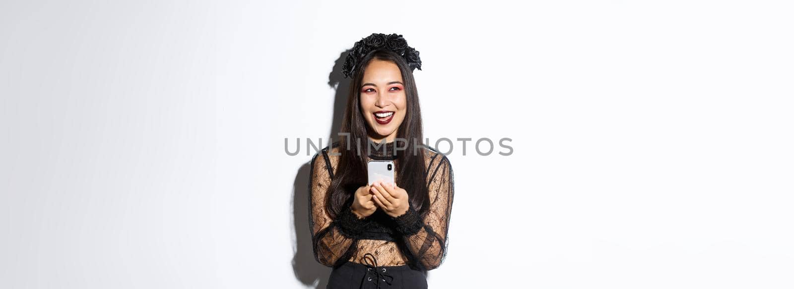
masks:
[(414, 69), (422, 70), (422, 60), (419, 59), (419, 52), (408, 46), (402, 35), (372, 33), (372, 35), (361, 38), (361, 40), (356, 41), (356, 44), (353, 44), (353, 49), (350, 49), (347, 58), (345, 58), (345, 64), (342, 65), (342, 74), (345, 77), (353, 78), (359, 68), (358, 65), (360, 65), (361, 59), (368, 52), (379, 48), (386, 48), (399, 56), (403, 56), (403, 59), (408, 63), (408, 67), (410, 67), (410, 71), (414, 71)]

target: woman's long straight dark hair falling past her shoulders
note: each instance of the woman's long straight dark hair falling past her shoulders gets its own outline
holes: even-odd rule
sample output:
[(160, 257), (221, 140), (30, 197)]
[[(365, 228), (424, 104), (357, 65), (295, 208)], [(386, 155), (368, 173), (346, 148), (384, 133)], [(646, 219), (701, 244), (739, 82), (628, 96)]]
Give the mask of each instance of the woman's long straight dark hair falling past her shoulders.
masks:
[[(369, 138), (367, 137), (367, 123), (361, 113), (361, 103), (359, 99), (360, 86), (364, 79), (364, 71), (371, 60), (387, 60), (399, 67), (400, 74), (403, 75), (403, 87), (406, 97), (406, 115), (403, 123), (397, 130), (395, 139), (395, 171), (397, 186), (408, 192), (410, 206), (414, 207), (420, 214), (426, 212), (430, 206), (430, 197), (426, 186), (425, 171), (425, 151), (422, 143), (422, 114), (419, 111), (419, 96), (416, 90), (414, 74), (408, 66), (403, 56), (397, 55), (391, 50), (376, 49), (368, 52), (361, 61), (360, 67), (356, 70), (348, 94), (345, 116), (342, 120), (341, 133), (349, 133), (350, 137), (341, 137), (339, 148), (341, 155), (337, 164), (337, 171), (334, 173), (333, 181), (328, 187), (326, 200), (326, 211), (335, 218), (341, 210), (348, 207), (353, 202), (353, 194), (359, 187), (367, 185), (367, 159), (361, 153), (367, 153)], [(405, 144), (399, 144), (399, 139), (406, 140)], [(385, 140), (383, 141), (385, 145)], [(414, 148), (415, 152), (414, 153)]]

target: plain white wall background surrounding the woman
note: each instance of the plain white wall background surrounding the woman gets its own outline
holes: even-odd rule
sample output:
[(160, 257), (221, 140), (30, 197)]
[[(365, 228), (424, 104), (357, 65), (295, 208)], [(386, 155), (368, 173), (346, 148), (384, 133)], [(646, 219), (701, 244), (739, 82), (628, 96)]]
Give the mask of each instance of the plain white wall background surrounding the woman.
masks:
[(370, 33), (421, 52), (431, 141), (513, 140), (455, 142), (431, 288), (794, 287), (792, 13), (0, 2), (0, 287), (325, 284), (305, 139), (333, 132), (340, 57)]

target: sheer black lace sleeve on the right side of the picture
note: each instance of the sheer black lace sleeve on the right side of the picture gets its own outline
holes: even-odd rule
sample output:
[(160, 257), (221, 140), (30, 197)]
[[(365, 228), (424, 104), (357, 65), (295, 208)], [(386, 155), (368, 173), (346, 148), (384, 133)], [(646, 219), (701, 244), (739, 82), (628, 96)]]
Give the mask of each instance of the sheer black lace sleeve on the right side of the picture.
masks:
[(437, 164), (428, 170), (428, 193), (430, 209), (425, 216), (418, 214), (413, 206), (408, 212), (394, 218), (397, 230), (403, 234), (414, 261), (424, 270), (441, 266), (447, 249), (449, 217), (452, 214), (454, 195), (452, 166), (446, 156), (441, 155)]

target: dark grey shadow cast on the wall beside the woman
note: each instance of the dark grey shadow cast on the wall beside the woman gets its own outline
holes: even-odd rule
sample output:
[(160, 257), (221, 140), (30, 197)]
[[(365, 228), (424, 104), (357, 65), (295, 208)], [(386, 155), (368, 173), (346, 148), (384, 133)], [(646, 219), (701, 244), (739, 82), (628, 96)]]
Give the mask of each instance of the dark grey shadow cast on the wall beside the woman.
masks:
[[(322, 143), (327, 144), (330, 137), (335, 137), (341, 126), (342, 115), (345, 114), (345, 102), (350, 87), (350, 80), (342, 76), (342, 65), (345, 64), (345, 57), (349, 51), (342, 52), (333, 69), (328, 75), (328, 85), (336, 88), (333, 99), (333, 120), (331, 121), (328, 136), (323, 137)], [(292, 270), (295, 278), (306, 286), (325, 288), (328, 284), (328, 277), (331, 268), (317, 262), (314, 259), (314, 249), (311, 242), (311, 229), (309, 228), (309, 174), (311, 173), (310, 162), (306, 162), (295, 175), (295, 183), (292, 191), (292, 220), (295, 222), (295, 243), (292, 251)]]

